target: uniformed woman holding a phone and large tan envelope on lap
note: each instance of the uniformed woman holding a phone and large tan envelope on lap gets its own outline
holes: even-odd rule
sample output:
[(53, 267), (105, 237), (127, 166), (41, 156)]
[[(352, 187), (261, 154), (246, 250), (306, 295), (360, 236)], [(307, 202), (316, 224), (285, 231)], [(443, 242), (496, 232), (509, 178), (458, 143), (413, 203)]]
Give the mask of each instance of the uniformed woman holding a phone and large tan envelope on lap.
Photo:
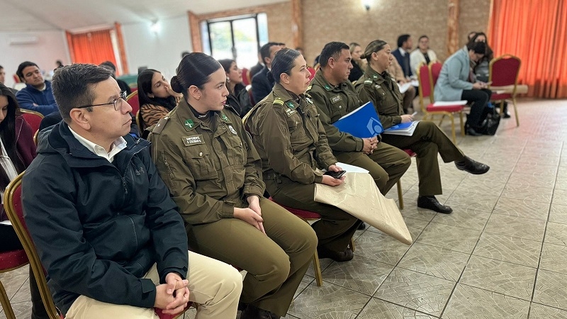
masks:
[(276, 203), (322, 216), (313, 224), (320, 258), (351, 260), (352, 249), (347, 246), (360, 221), (335, 206), (313, 201), (315, 183), (337, 186), (344, 177), (335, 179), (319, 170), (341, 169), (317, 108), (305, 95), (310, 77), (307, 63), (296, 50), (283, 49), (276, 53), (269, 76), (276, 83), (274, 89), (252, 108), (246, 123), (262, 158), (266, 190)]

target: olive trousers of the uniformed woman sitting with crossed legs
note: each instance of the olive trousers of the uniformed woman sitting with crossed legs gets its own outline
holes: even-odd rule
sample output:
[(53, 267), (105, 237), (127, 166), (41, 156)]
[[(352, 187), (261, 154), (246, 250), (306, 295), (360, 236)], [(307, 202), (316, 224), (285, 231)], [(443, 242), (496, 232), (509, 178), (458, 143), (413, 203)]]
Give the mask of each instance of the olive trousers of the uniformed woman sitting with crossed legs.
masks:
[(464, 157), (463, 152), (447, 135), (430, 121), (418, 123), (412, 136), (383, 134), (382, 140), (402, 150), (409, 148), (417, 154), (420, 196), (442, 194), (437, 153), (446, 163), (458, 161)]

